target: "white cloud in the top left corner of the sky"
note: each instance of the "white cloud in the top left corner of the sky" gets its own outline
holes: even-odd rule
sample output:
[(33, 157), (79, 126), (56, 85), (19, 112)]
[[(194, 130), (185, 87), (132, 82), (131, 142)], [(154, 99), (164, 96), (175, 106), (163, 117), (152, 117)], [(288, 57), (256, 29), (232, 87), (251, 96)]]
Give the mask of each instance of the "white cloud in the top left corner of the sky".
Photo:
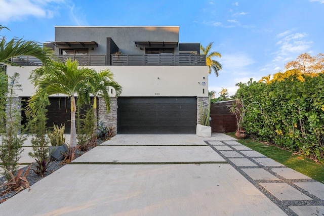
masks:
[(52, 18), (53, 4), (63, 4), (64, 0), (0, 0), (0, 21), (23, 20), (29, 16)]

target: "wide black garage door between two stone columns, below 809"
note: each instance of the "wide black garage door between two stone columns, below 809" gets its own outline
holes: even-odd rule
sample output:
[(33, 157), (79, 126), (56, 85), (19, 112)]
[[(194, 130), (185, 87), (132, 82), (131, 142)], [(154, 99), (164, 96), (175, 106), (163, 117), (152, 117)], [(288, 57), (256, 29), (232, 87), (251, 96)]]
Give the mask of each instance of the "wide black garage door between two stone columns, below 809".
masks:
[(117, 115), (122, 134), (196, 132), (195, 97), (119, 97)]

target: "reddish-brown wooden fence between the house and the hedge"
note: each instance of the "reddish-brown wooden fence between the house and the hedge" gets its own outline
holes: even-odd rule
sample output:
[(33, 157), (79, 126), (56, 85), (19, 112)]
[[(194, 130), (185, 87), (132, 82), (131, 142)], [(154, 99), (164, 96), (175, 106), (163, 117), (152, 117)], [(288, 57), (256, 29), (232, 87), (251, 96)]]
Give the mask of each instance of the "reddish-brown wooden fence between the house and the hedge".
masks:
[(220, 101), (211, 104), (212, 133), (236, 131), (236, 117), (229, 112), (228, 106), (234, 101)]

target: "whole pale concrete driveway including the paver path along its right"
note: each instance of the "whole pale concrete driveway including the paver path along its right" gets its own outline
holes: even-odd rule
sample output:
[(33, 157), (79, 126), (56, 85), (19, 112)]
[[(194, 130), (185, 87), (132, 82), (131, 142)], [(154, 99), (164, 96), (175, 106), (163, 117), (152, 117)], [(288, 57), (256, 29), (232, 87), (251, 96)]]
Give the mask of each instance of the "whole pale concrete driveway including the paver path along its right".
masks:
[(117, 135), (1, 215), (323, 215), (324, 185), (224, 134)]

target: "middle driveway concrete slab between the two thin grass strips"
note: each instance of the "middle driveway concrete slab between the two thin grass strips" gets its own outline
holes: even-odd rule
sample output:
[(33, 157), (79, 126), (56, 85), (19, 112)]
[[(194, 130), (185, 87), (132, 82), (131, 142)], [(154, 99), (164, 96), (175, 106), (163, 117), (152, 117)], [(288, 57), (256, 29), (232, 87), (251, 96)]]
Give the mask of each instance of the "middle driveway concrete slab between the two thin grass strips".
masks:
[(98, 146), (74, 162), (225, 162), (209, 146)]

